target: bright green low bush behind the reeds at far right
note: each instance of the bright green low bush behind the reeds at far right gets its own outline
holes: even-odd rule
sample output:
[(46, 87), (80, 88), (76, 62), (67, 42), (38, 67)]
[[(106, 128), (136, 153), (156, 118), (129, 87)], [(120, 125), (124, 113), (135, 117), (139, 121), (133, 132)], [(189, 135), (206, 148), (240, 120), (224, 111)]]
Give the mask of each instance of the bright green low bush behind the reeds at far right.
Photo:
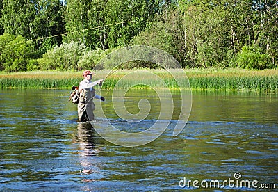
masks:
[(242, 51), (236, 57), (238, 67), (249, 70), (263, 70), (273, 67), (270, 63), (270, 56), (261, 52), (261, 49), (254, 46), (243, 46)]

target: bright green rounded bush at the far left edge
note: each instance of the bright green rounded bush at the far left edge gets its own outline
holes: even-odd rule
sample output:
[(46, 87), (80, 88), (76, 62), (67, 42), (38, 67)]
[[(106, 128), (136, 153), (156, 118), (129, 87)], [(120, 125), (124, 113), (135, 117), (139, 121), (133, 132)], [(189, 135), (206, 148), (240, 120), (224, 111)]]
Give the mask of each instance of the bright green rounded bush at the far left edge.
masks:
[(31, 42), (22, 36), (4, 34), (0, 36), (0, 70), (6, 72), (26, 71), (32, 56)]

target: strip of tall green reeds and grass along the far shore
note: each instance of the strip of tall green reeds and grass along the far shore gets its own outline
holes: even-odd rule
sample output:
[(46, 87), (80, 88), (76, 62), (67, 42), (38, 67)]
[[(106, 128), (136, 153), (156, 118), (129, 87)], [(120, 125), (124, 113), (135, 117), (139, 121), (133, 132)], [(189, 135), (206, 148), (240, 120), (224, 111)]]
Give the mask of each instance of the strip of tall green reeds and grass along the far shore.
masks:
[[(149, 72), (149, 73), (148, 73)], [(163, 88), (159, 82), (160, 77), (168, 88), (179, 88), (175, 79), (165, 70), (118, 70), (106, 79), (103, 88), (129, 88), (139, 84), (136, 88), (145, 88), (142, 83), (153, 88)], [(186, 88), (184, 75), (178, 70), (170, 70), (179, 81), (181, 88)], [(250, 71), (240, 69), (228, 70), (185, 70), (190, 81), (190, 88), (200, 90), (258, 90), (263, 92), (276, 92), (278, 90), (278, 70)], [(109, 74), (108, 70), (97, 71), (94, 79), (102, 79)], [(155, 75), (153, 75), (155, 74)], [(18, 72), (0, 74), (0, 88), (71, 88), (78, 86), (81, 81), (81, 72)], [(165, 88), (165, 87), (164, 87)]]

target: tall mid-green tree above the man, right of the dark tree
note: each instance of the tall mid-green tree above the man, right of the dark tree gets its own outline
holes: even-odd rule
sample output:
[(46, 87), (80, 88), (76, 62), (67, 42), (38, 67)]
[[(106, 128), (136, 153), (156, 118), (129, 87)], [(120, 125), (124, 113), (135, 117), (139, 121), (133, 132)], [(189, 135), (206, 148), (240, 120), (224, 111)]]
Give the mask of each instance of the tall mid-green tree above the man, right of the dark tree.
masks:
[(106, 22), (107, 1), (67, 1), (65, 22), (68, 34), (64, 42), (84, 43), (90, 49), (108, 49)]

